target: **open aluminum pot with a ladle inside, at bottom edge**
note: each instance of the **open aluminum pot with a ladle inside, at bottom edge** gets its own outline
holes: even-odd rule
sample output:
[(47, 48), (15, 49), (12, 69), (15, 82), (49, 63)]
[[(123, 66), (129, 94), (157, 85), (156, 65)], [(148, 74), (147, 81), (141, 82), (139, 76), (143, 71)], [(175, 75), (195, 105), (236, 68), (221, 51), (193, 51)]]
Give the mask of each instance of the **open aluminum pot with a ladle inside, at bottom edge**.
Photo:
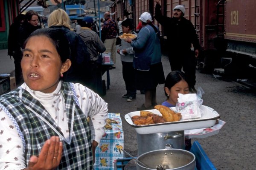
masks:
[[(140, 155), (137, 160), (137, 170), (195, 170), (195, 155), (182, 149), (153, 150)], [(157, 168), (162, 165), (163, 169)]]

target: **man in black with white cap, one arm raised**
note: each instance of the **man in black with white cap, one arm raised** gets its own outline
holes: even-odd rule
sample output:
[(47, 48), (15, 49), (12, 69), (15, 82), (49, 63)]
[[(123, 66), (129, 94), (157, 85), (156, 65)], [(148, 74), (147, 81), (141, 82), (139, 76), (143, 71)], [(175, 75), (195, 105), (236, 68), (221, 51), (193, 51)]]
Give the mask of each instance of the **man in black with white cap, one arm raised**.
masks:
[[(167, 37), (168, 56), (172, 71), (183, 68), (189, 84), (189, 91), (195, 90), (195, 57), (199, 54), (199, 41), (193, 24), (183, 16), (185, 8), (182, 5), (173, 8), (173, 17), (163, 16), (160, 0), (155, 0), (155, 19), (160, 23)], [(194, 51), (191, 51), (193, 44)]]

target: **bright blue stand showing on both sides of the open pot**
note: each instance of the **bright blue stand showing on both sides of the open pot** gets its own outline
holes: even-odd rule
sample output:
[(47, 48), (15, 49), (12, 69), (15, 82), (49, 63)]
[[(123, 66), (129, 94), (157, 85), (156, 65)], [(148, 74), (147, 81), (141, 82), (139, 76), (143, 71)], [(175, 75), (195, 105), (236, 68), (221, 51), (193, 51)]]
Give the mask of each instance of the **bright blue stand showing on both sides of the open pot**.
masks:
[[(195, 155), (195, 170), (217, 170), (215, 166), (212, 164), (212, 161), (210, 161), (207, 154), (204, 152), (204, 149), (201, 147), (198, 141), (193, 142), (190, 152), (194, 153)], [(124, 170), (125, 165), (131, 159), (132, 158), (117, 159), (115, 170)]]

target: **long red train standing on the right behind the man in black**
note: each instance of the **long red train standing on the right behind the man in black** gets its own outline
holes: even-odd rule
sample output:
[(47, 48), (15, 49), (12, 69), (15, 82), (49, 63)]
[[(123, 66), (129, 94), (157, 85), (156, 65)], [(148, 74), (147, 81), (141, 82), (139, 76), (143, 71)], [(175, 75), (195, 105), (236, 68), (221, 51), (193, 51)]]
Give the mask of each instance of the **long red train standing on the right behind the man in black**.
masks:
[[(240, 77), (246, 74), (248, 65), (256, 66), (255, 0), (161, 0), (161, 5), (162, 14), (168, 17), (172, 17), (175, 6), (185, 7), (184, 17), (195, 26), (201, 58), (208, 71), (222, 66), (225, 74)], [(151, 13), (154, 19), (154, 0), (119, 0), (116, 6), (121, 16), (124, 8), (133, 11), (135, 26), (143, 12)], [(168, 30), (156, 20), (154, 23), (159, 26), (164, 42)], [(221, 58), (226, 57), (232, 58), (232, 62), (221, 64)]]

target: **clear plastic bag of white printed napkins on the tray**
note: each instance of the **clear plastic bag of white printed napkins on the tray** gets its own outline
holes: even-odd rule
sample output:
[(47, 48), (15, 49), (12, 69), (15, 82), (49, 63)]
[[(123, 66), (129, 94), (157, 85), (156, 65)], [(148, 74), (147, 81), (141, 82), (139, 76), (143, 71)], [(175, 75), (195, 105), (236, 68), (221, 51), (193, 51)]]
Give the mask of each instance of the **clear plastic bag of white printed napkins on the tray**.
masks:
[(198, 88), (197, 94), (178, 94), (176, 110), (181, 113), (182, 119), (201, 117), (200, 106), (203, 104), (203, 94), (204, 91), (201, 87)]

